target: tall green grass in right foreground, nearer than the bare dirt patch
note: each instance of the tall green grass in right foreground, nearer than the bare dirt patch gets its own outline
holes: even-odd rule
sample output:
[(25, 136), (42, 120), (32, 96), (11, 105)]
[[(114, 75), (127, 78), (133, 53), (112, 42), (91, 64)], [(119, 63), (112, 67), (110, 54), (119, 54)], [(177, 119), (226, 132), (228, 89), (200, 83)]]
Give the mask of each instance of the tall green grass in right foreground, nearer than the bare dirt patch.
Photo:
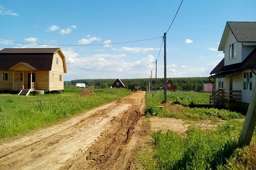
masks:
[(227, 123), (216, 130), (190, 127), (182, 138), (168, 131), (153, 133), (155, 139), (155, 168), (161, 170), (217, 169), (226, 163), (239, 146), (241, 122)]

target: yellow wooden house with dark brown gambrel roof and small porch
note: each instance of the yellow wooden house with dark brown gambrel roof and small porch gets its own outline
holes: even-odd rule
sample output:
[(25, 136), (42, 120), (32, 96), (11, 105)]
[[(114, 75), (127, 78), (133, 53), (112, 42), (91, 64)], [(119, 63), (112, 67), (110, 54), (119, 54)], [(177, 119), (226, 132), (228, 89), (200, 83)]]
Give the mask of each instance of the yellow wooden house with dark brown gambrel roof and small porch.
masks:
[(64, 90), (66, 60), (60, 48), (4, 48), (0, 90)]

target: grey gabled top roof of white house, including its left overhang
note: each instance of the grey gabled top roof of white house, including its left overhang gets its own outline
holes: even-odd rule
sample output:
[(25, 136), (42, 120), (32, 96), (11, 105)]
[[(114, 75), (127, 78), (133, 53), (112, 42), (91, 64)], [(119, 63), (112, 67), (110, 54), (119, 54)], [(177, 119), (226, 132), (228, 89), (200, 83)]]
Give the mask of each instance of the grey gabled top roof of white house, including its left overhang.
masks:
[(227, 21), (224, 28), (218, 51), (223, 51), (229, 32), (232, 31), (237, 42), (256, 42), (256, 22)]

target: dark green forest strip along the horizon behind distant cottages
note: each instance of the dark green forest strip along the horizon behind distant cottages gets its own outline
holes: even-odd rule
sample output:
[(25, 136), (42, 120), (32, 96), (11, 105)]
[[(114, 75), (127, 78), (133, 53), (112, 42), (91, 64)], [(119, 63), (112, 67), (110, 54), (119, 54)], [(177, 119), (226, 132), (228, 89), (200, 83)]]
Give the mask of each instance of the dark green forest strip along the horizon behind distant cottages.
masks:
[[(173, 82), (176, 91), (201, 91), (203, 85), (211, 83), (207, 77), (187, 77), (187, 78), (167, 78)], [(151, 79), (149, 78), (136, 78), (136, 79), (120, 79), (127, 89), (134, 89), (135, 86), (141, 86), (146, 90)], [(77, 83), (85, 83), (86, 87), (94, 88), (110, 88), (116, 79), (77, 79), (66, 82), (67, 85), (75, 86)], [(211, 79), (213, 82), (213, 79)], [(164, 85), (164, 78), (157, 78), (157, 90)], [(155, 78), (152, 78), (152, 90), (155, 90)]]

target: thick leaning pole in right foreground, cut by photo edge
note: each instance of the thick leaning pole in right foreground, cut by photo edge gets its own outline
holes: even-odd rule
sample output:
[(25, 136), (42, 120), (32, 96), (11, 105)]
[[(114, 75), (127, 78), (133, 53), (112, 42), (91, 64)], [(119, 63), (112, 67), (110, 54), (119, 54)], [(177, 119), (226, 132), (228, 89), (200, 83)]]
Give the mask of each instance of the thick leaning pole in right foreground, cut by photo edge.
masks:
[(250, 145), (253, 132), (256, 126), (256, 84), (252, 91), (252, 97), (248, 107), (246, 117), (244, 119), (242, 132), (240, 134), (239, 142), (242, 145)]

